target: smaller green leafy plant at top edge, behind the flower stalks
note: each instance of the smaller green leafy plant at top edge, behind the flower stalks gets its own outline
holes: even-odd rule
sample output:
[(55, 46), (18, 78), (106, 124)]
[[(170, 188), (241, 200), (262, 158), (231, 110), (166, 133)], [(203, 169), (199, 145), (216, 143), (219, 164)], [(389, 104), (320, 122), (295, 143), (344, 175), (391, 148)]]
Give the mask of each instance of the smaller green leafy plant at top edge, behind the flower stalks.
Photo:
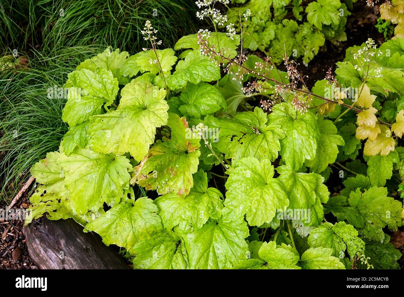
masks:
[[(352, 2), (340, 0), (239, 0), (242, 7), (231, 8), (228, 23), (238, 23), (241, 12), (250, 17), (242, 25), (245, 48), (265, 49), (274, 63), (282, 54), (303, 57), (307, 64), (325, 40), (338, 44), (346, 41), (345, 24)], [(303, 2), (303, 3), (302, 3)], [(248, 13), (250, 12), (250, 13)]]

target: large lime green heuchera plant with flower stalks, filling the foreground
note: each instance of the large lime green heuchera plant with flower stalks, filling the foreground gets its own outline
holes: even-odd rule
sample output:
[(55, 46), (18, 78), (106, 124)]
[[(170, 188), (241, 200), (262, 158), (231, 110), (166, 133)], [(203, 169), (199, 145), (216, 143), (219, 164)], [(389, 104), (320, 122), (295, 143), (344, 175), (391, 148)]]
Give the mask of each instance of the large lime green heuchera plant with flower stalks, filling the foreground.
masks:
[[(215, 2), (197, 4), (216, 27)], [(69, 132), (32, 168), (26, 223), (73, 217), (134, 268), (399, 268), (404, 40), (349, 48), (309, 90), (286, 55), (287, 72), (239, 55), (231, 28), (163, 50), (142, 33), (151, 48), (69, 74)]]

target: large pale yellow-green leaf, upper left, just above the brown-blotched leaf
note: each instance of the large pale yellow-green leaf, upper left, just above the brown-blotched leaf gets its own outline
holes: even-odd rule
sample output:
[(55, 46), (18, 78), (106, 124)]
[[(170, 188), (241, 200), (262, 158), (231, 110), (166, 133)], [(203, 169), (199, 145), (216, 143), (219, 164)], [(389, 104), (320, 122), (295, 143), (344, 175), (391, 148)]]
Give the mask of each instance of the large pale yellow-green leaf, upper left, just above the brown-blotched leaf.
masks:
[(92, 118), (90, 146), (103, 154), (130, 152), (140, 161), (154, 143), (156, 127), (167, 122), (166, 91), (147, 82), (131, 82), (121, 94), (116, 110)]

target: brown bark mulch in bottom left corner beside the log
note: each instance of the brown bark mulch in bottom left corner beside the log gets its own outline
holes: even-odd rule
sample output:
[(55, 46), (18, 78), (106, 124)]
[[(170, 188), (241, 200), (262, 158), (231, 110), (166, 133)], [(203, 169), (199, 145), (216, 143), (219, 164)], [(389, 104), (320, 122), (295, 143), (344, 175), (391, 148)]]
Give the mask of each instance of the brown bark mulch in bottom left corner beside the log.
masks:
[[(25, 194), (13, 206), (13, 209), (28, 207)], [(0, 209), (6, 209), (0, 201)], [(28, 255), (22, 228), (23, 219), (0, 219), (0, 269), (38, 269)]]

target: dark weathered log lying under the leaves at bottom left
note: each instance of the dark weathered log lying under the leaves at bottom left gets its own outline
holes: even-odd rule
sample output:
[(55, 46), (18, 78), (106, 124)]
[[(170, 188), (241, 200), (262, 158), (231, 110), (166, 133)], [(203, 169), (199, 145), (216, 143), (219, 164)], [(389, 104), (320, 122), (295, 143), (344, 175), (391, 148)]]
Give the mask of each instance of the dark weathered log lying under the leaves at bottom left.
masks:
[(42, 217), (23, 228), (27, 249), (41, 269), (128, 269), (128, 265), (98, 234), (84, 233), (73, 219)]

